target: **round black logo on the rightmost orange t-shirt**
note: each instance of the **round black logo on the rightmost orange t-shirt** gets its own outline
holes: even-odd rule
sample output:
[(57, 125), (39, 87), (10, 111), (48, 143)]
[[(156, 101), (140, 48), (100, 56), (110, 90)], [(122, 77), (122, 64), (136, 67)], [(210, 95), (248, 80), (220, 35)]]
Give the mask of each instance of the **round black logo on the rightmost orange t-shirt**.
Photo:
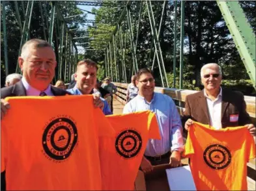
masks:
[(210, 168), (221, 170), (229, 166), (231, 162), (231, 153), (227, 147), (220, 144), (214, 144), (206, 147), (203, 158)]

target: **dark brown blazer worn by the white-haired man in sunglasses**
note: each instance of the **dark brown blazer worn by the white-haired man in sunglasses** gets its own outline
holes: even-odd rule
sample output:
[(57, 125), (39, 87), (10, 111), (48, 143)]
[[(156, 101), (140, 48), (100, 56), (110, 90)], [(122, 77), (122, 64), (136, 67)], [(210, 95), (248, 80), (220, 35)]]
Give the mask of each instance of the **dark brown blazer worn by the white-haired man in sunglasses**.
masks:
[[(244, 101), (242, 92), (222, 88), (220, 112), (222, 128), (242, 126), (251, 123), (249, 114), (246, 112), (246, 102)], [(230, 121), (230, 116), (234, 114), (238, 115), (238, 121)], [(187, 95), (184, 120), (188, 118), (206, 125), (210, 123), (210, 115), (204, 90)]]

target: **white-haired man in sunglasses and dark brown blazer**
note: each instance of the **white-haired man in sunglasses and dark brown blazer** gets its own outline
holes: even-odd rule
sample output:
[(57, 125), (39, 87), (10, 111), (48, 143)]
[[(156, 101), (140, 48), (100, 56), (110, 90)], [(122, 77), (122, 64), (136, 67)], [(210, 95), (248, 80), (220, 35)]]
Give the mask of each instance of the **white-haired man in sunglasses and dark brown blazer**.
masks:
[(206, 64), (201, 68), (201, 81), (205, 87), (201, 92), (188, 95), (184, 117), (188, 119), (188, 130), (193, 120), (209, 124), (215, 129), (246, 125), (255, 135), (255, 126), (251, 124), (246, 112), (244, 95), (221, 88), (222, 71), (218, 64)]

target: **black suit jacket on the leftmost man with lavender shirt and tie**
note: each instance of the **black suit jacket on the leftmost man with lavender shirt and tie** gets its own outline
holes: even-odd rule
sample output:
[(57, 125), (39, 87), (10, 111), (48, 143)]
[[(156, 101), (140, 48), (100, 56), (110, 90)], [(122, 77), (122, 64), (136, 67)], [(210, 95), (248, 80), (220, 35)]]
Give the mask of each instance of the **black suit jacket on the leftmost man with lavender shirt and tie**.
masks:
[[(55, 96), (66, 95), (70, 92), (66, 92), (60, 88), (56, 88), (51, 86), (51, 92)], [(22, 82), (19, 81), (18, 83), (14, 84), (13, 86), (1, 88), (1, 99), (5, 97), (14, 97), (14, 96), (26, 96), (26, 90), (23, 86)], [(5, 183), (5, 171), (1, 173), (1, 190), (6, 190), (6, 183)]]

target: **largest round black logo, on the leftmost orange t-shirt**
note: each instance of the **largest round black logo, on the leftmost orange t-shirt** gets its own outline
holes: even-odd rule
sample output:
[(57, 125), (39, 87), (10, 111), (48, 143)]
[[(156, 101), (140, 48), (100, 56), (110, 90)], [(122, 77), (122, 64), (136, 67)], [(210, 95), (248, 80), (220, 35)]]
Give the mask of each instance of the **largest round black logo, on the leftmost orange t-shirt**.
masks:
[(67, 159), (78, 141), (78, 130), (68, 118), (57, 118), (44, 130), (42, 146), (46, 154), (55, 160)]

